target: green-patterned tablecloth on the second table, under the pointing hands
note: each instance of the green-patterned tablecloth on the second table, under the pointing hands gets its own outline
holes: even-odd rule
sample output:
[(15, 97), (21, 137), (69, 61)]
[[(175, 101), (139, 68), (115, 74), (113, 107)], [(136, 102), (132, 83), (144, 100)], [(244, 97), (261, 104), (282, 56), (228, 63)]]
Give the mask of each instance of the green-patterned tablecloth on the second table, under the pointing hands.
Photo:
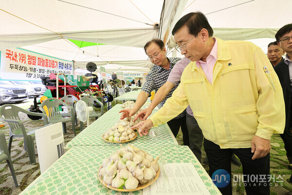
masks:
[[(102, 117), (99, 117), (90, 126), (69, 141), (65, 149), (69, 150), (73, 146), (118, 145), (117, 143), (104, 141), (102, 139), (102, 135), (118, 122), (121, 117), (121, 113), (119, 113), (119, 111), (122, 109), (121, 104), (115, 105)], [(151, 128), (148, 136), (140, 137), (138, 135), (136, 139), (127, 143), (133, 144), (137, 147), (142, 145), (178, 144), (167, 124)]]

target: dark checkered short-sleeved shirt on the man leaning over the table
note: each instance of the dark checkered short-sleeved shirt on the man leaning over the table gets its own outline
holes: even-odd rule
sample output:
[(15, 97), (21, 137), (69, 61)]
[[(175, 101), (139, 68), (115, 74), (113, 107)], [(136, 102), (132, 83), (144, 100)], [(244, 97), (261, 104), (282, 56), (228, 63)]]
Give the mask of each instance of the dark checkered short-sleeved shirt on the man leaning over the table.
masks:
[[(151, 71), (147, 74), (146, 76), (146, 81), (144, 83), (144, 85), (142, 86), (142, 91), (148, 93), (149, 95), (151, 94), (151, 91), (155, 90), (156, 92), (158, 91), (158, 89), (164, 85), (164, 83), (166, 82), (168, 75), (170, 74), (172, 68), (174, 67), (174, 65), (181, 60), (181, 58), (167, 58), (170, 62), (169, 65), (169, 70), (161, 67), (161, 66), (157, 66), (156, 64), (154, 64), (152, 66)], [(173, 91), (179, 86), (180, 82), (178, 82), (171, 90), (170, 92), (166, 95), (166, 97), (164, 98), (164, 100), (162, 100), (160, 102), (160, 105), (163, 106), (166, 99), (171, 97)], [(185, 111), (183, 111), (180, 115), (178, 115), (175, 118), (180, 118), (183, 117), (185, 115)]]

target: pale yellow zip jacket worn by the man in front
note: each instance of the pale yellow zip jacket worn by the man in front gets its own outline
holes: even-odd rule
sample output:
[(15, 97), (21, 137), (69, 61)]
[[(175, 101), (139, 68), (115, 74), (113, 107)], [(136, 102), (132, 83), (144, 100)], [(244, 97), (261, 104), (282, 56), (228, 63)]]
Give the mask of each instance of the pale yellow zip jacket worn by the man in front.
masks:
[(212, 84), (191, 62), (181, 83), (152, 117), (165, 123), (190, 105), (206, 139), (220, 148), (250, 148), (256, 135), (282, 134), (285, 106), (282, 88), (263, 51), (249, 41), (218, 40)]

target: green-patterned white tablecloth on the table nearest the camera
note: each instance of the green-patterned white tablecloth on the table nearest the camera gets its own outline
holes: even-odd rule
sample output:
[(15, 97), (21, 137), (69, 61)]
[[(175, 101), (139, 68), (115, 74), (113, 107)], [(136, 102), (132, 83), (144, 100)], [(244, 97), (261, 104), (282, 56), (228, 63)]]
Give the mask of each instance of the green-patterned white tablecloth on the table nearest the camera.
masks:
[[(127, 144), (125, 144), (127, 145)], [(220, 195), (205, 169), (187, 146), (152, 144), (140, 147), (160, 163), (192, 163), (211, 195)], [(102, 160), (119, 146), (77, 146), (67, 151), (20, 195), (142, 195), (143, 191), (118, 192), (98, 180)]]

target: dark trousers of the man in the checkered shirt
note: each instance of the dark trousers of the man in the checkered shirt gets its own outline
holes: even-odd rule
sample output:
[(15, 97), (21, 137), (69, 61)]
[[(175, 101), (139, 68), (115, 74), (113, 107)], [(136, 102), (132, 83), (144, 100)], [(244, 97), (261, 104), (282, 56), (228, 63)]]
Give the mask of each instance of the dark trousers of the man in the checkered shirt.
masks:
[(189, 146), (189, 137), (188, 137), (188, 132), (187, 132), (187, 127), (186, 127), (186, 117), (180, 117), (180, 118), (175, 118), (172, 120), (169, 120), (167, 122), (169, 128), (171, 129), (174, 137), (176, 137), (180, 131), (180, 127), (182, 128), (183, 132), (183, 145)]

